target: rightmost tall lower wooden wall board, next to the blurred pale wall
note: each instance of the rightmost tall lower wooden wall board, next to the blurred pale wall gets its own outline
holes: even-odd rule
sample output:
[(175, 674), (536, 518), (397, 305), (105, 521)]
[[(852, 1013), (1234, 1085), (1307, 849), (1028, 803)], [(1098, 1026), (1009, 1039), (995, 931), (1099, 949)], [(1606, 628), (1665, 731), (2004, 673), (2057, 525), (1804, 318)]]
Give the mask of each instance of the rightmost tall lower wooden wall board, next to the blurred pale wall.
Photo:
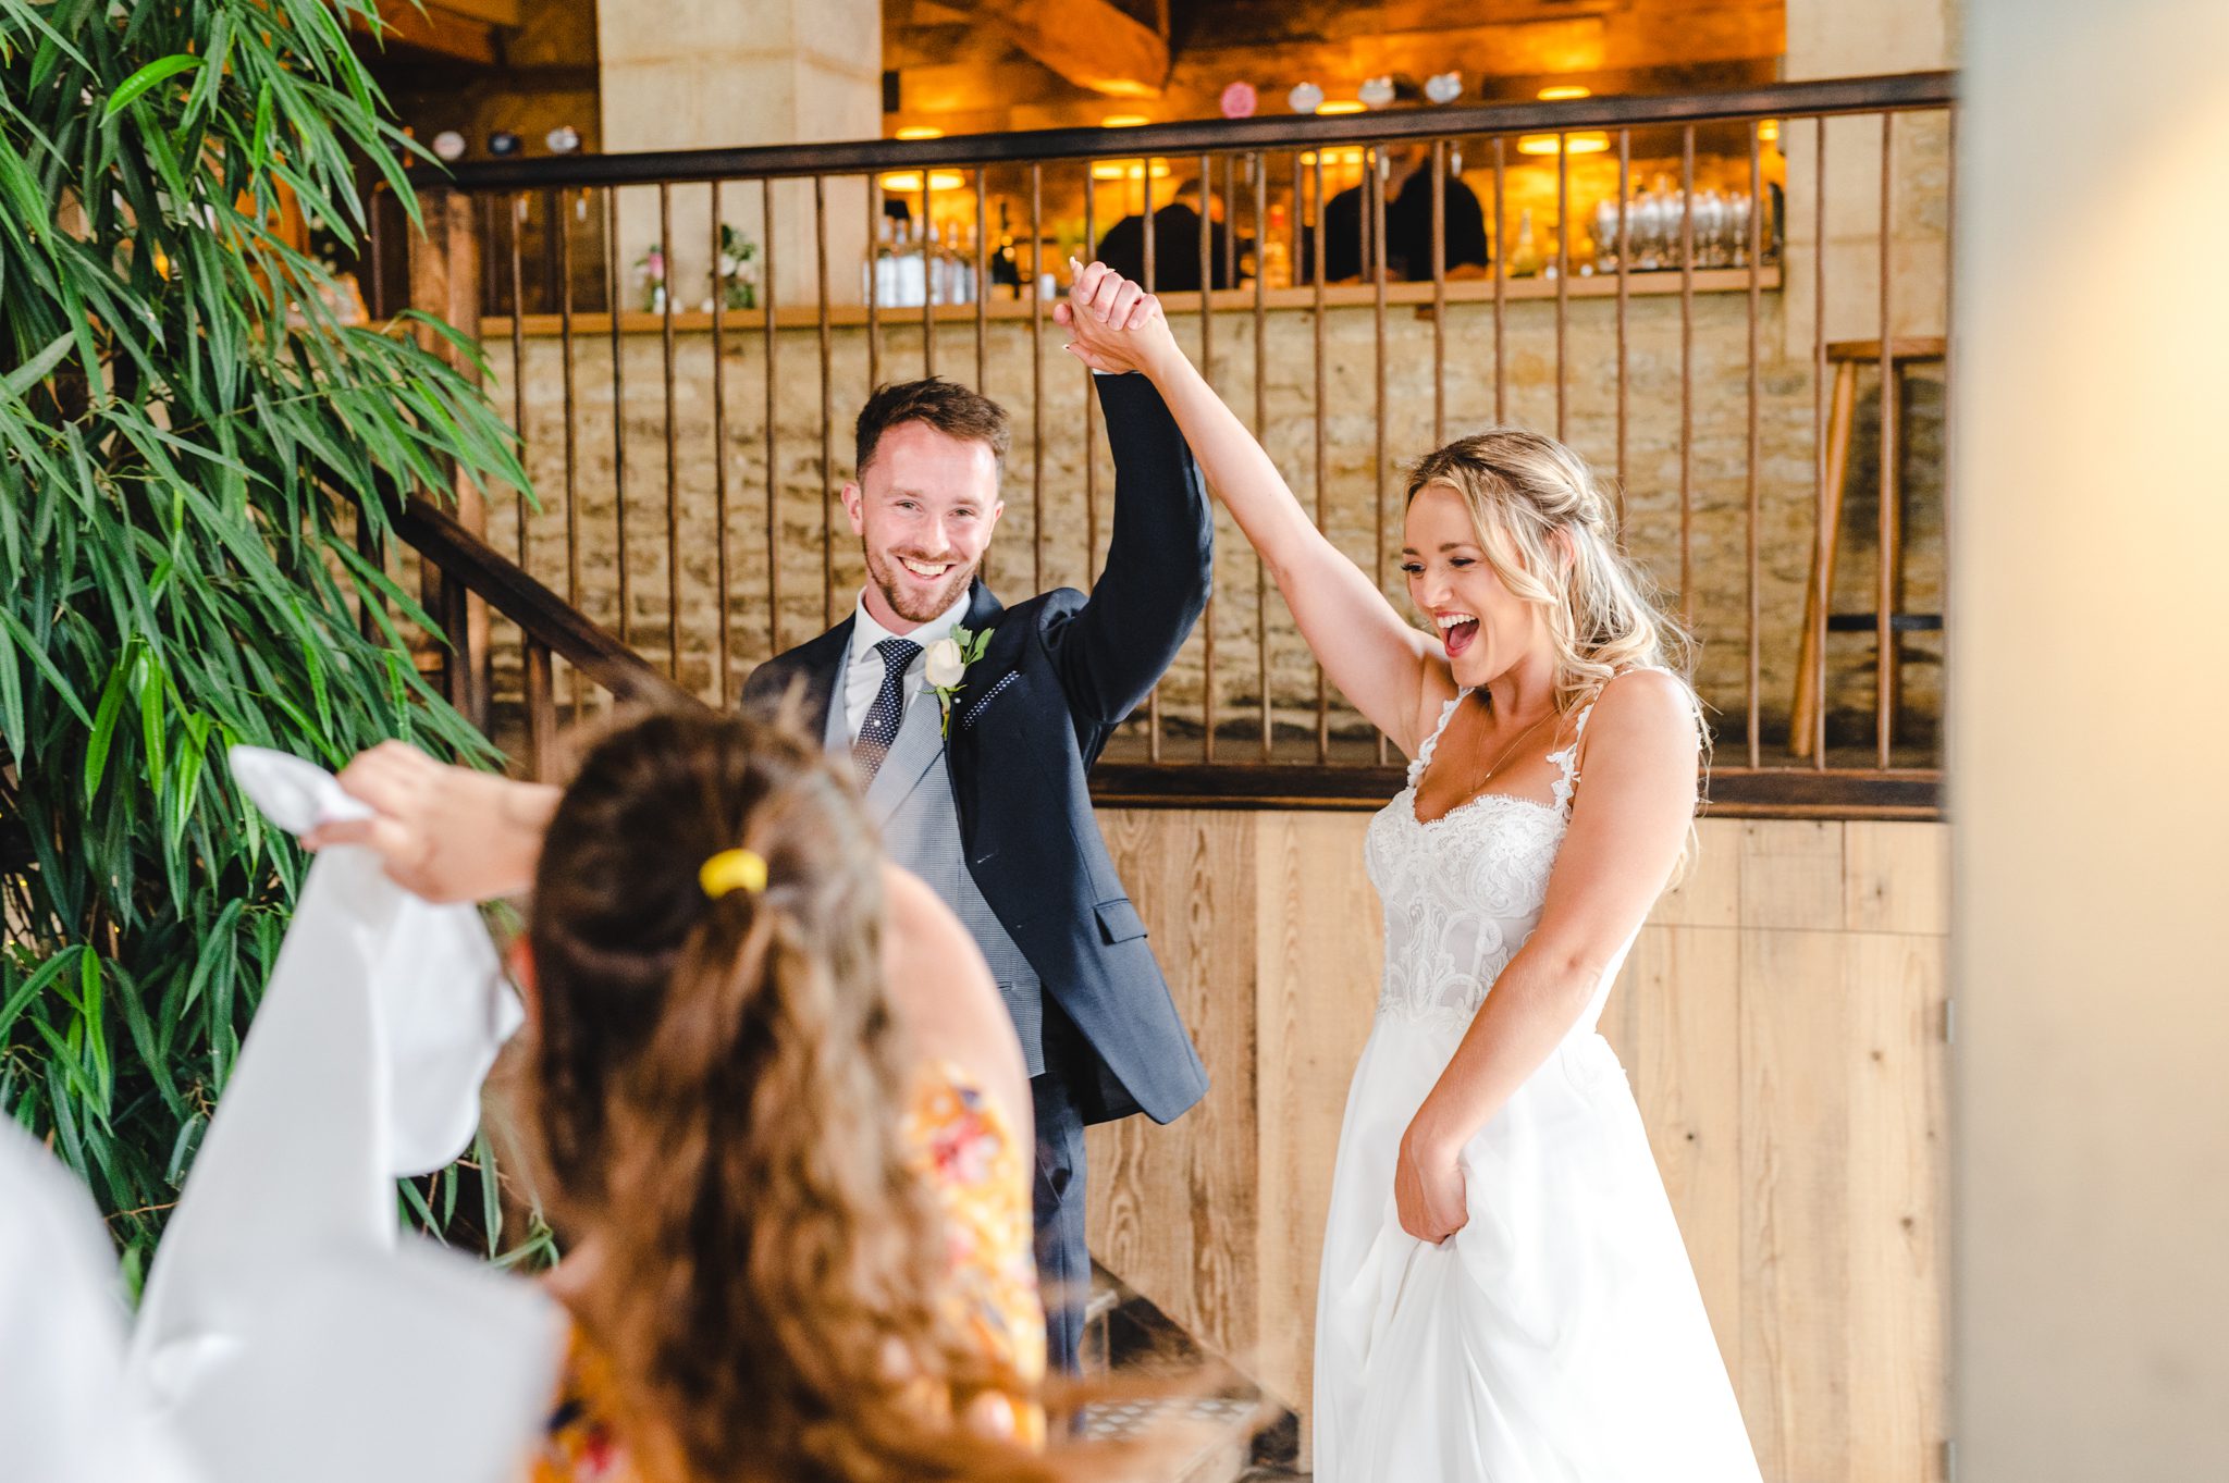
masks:
[(1948, 1434), (1946, 940), (1852, 935), (1843, 991), (1852, 1011), (1852, 1470), (1868, 1483), (1939, 1483)]

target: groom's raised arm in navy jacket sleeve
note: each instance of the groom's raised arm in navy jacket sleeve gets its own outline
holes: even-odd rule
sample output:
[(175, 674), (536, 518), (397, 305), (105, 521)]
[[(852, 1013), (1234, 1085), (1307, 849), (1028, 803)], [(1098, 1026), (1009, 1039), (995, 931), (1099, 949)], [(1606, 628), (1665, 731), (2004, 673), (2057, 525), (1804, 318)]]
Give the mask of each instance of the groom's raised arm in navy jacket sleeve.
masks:
[(1161, 681), (1208, 606), (1215, 517), (1152, 381), (1092, 383), (1114, 452), (1114, 528), (1090, 601), (1052, 635), (1052, 655), (1077, 717), (1112, 726)]

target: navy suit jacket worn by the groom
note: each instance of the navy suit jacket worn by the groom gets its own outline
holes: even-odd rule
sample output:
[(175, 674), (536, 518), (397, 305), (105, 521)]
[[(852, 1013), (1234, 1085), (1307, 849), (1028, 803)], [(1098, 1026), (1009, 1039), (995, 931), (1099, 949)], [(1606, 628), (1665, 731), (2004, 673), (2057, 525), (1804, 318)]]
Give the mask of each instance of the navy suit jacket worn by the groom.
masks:
[[(1143, 376), (1092, 376), (1114, 454), (1114, 514), (1092, 595), (1059, 588), (1001, 608), (976, 581), (965, 626), (990, 646), (963, 679), (945, 737), (967, 873), (1045, 998), (1081, 1031), (1048, 1033), (1045, 1076), (1088, 1122), (1168, 1122), (1208, 1091), (1146, 924), (1114, 875), (1086, 775), (1175, 661), (1208, 601), (1215, 521), (1193, 452)], [(744, 706), (791, 693), (818, 742), (851, 619), (758, 666)], [(1054, 1015), (1048, 1013), (1048, 1031)]]

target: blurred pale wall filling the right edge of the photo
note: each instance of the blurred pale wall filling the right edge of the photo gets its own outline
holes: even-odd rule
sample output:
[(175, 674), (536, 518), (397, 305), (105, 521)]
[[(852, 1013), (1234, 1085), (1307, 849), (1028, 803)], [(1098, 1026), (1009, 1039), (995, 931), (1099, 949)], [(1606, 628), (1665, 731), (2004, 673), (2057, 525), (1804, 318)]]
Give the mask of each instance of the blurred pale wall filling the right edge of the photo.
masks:
[(2229, 4), (1962, 47), (1959, 1479), (2225, 1479)]

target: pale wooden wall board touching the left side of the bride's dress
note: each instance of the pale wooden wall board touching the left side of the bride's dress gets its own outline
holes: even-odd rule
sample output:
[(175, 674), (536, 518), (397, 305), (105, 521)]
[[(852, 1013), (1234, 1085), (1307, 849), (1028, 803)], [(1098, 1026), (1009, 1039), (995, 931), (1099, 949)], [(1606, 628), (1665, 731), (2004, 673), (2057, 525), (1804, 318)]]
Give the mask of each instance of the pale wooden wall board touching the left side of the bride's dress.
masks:
[(1262, 1049), (1262, 1349), (1255, 1376), (1302, 1414), (1315, 1374), (1315, 1274), (1346, 1084), (1378, 1009), (1384, 929), (1362, 868), (1369, 815), (1257, 813)]

